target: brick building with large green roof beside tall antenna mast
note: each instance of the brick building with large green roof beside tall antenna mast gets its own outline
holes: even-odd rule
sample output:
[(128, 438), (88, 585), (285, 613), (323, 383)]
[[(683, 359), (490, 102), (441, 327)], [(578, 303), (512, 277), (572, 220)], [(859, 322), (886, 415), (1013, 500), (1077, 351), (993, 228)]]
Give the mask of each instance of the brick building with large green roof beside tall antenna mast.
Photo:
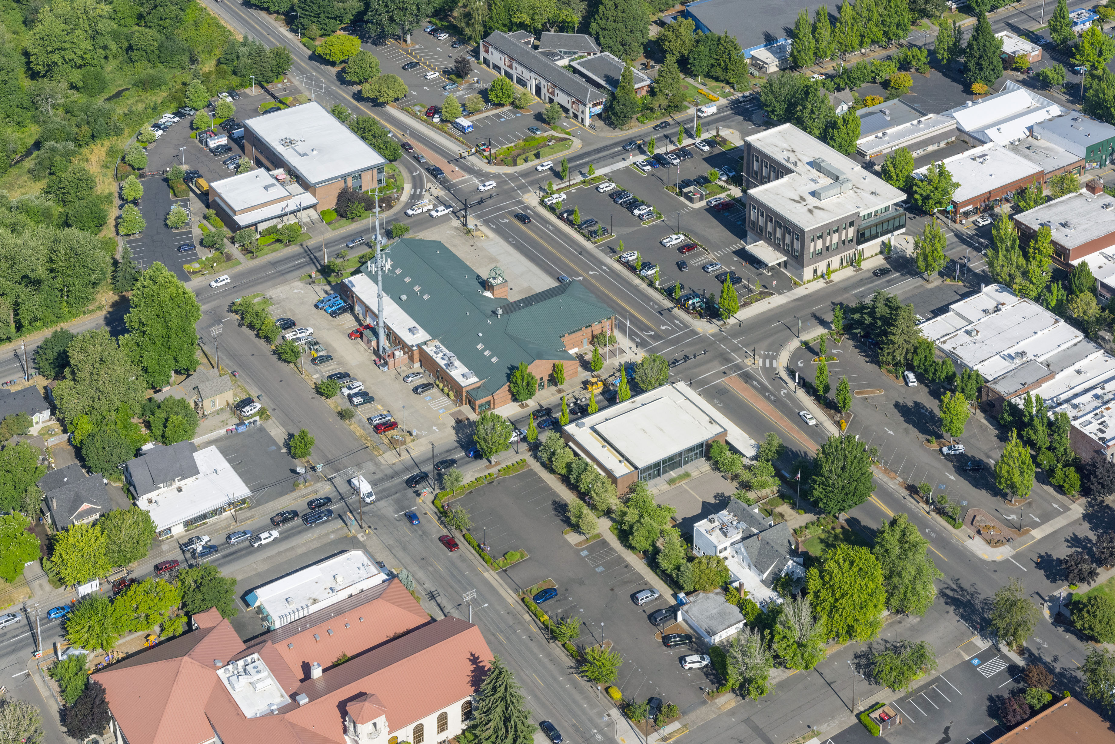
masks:
[[(525, 361), (541, 385), (554, 364), (575, 377), (575, 352), (615, 332), (614, 313), (578, 281), (507, 299), (498, 268), (477, 274), (444, 243), (403, 239), (385, 253), (384, 321), (389, 367), (418, 365), (456, 403), (479, 413), (512, 402), (511, 373)], [(374, 262), (345, 280), (357, 316), (376, 322)], [(376, 331), (363, 332), (375, 348)]]

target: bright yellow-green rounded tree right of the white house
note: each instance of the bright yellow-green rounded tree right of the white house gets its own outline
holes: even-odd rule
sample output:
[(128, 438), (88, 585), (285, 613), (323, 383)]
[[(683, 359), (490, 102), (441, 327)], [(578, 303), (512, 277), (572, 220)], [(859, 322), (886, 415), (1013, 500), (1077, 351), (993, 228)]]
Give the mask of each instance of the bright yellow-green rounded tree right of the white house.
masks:
[(826, 637), (846, 642), (879, 635), (886, 593), (882, 568), (866, 548), (840, 544), (826, 552), (821, 567), (807, 571), (806, 589)]

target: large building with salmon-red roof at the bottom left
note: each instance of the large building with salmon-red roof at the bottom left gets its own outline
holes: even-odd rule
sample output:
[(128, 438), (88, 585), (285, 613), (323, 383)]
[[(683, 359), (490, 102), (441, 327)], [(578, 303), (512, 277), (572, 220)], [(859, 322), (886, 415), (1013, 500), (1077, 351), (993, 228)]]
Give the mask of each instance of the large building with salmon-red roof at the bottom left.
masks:
[(433, 620), (398, 579), (246, 645), (215, 609), (193, 620), (97, 673), (119, 741), (435, 744), (464, 729), (492, 658), (479, 628)]

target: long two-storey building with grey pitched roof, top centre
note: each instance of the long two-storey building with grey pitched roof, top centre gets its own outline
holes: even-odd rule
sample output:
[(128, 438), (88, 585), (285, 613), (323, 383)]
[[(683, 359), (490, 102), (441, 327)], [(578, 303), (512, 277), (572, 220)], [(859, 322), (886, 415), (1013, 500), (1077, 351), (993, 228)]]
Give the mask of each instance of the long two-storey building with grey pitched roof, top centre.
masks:
[(556, 103), (581, 124), (589, 124), (590, 118), (604, 110), (605, 94), (503, 31), (493, 31), (481, 41), (481, 62), (544, 103)]

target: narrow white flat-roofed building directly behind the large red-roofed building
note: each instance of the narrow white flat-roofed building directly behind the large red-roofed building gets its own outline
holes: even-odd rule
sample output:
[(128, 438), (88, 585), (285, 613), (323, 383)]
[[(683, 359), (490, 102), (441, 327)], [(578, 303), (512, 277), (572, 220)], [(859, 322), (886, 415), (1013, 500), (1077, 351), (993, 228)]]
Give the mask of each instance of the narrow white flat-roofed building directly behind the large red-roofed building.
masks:
[(244, 601), (274, 630), (384, 581), (367, 552), (348, 550), (253, 589)]

